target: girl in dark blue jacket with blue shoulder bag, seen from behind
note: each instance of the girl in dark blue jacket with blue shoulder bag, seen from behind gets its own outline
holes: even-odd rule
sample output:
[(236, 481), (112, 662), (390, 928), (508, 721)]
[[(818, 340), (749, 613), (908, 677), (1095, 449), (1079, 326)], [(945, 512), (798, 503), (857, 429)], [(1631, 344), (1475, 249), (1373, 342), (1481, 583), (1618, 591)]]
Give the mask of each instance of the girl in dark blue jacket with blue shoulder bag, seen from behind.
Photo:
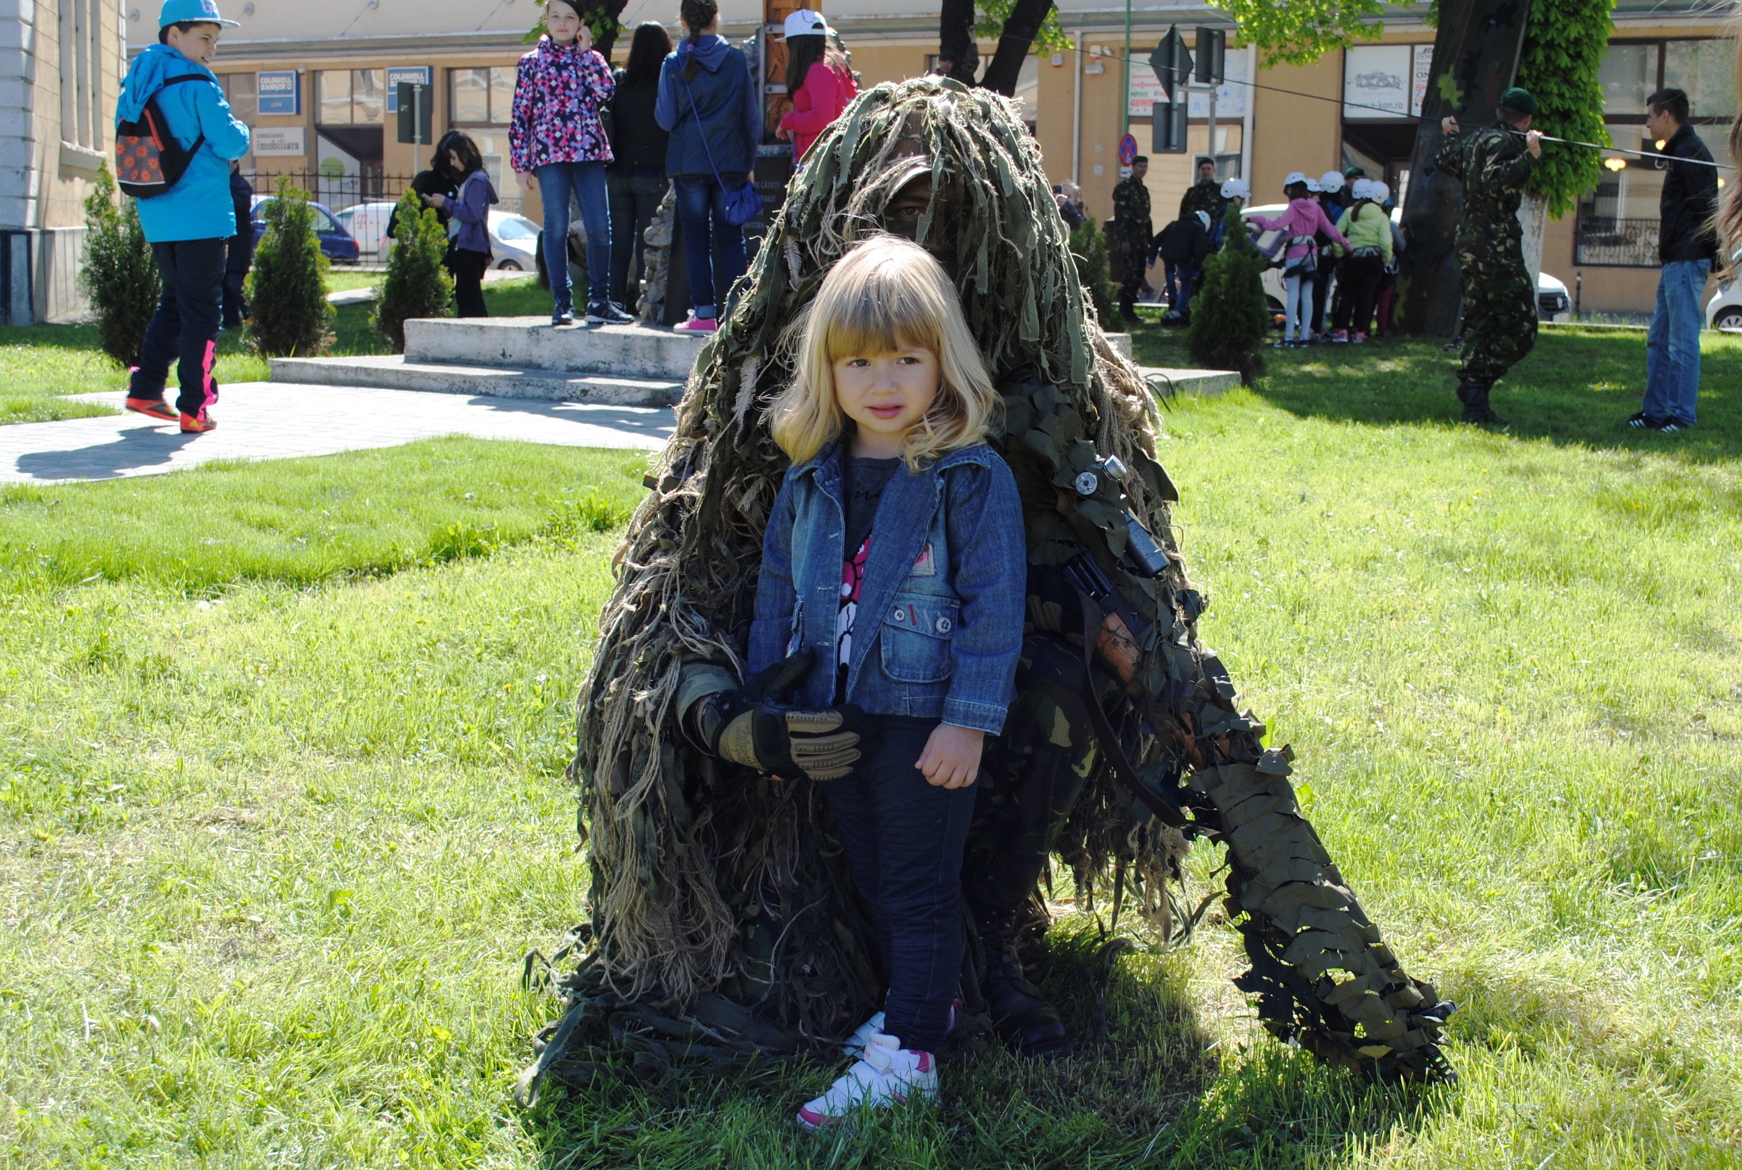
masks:
[(744, 275), (744, 232), (726, 221), (726, 192), (749, 183), (761, 138), (761, 115), (751, 91), (751, 66), (744, 54), (719, 35), (719, 5), (714, 0), (683, 0), (683, 26), (690, 35), (660, 66), (653, 120), (671, 131), (665, 174), (678, 198), (683, 223), (683, 259), (690, 272), (690, 319), (678, 326), (712, 333), (719, 306), (714, 305), (712, 245), (718, 240), (725, 263), (725, 287)]

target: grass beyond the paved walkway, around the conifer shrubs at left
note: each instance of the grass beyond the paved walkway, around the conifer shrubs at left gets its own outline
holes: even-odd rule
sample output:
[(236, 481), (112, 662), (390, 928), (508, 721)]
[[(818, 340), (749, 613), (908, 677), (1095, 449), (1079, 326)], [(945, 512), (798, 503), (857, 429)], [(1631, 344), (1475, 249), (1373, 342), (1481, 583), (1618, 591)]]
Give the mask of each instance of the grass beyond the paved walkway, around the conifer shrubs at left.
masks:
[[(334, 270), (327, 289), (380, 284), (381, 273)], [(484, 305), (496, 317), (549, 313), (550, 294), (537, 277), (503, 280), (484, 287)], [(387, 353), (387, 340), (369, 324), (375, 305), (340, 306), (333, 320), (333, 353)], [(125, 390), (127, 374), (111, 362), (98, 341), (96, 326), (0, 326), (0, 425), (47, 423), (59, 418), (115, 414), (101, 402), (80, 400), (82, 393)], [(218, 385), (265, 381), (267, 362), (247, 348), (242, 334), (218, 334)], [(171, 371), (174, 387), (174, 371)], [(171, 390), (174, 397), (174, 390)]]

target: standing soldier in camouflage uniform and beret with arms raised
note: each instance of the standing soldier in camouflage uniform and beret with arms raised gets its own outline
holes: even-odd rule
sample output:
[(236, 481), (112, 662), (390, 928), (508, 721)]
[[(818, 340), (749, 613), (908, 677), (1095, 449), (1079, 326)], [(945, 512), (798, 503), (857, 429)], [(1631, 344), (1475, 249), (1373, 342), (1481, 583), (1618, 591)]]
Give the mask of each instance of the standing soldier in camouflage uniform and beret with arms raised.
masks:
[(1463, 353), (1458, 400), (1463, 421), (1505, 427), (1488, 392), (1536, 345), (1536, 286), (1524, 265), (1519, 200), (1542, 158), (1542, 132), (1531, 131), (1536, 99), (1523, 89), (1500, 94), (1495, 125), (1462, 134), (1446, 118), (1435, 165), (1463, 183), (1458, 263), (1463, 266)]

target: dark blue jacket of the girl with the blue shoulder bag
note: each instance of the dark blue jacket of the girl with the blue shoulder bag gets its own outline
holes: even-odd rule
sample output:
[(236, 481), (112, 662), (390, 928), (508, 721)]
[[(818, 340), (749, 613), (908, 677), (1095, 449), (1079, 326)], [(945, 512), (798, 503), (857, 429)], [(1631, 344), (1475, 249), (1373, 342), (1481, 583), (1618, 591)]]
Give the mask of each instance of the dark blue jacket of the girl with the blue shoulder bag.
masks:
[[(683, 66), (692, 54), (697, 63), (695, 80), (685, 85)], [(711, 176), (719, 171), (726, 186), (732, 186), (737, 181), (733, 176), (742, 179), (756, 165), (761, 117), (751, 92), (751, 66), (725, 37), (704, 37), (699, 49), (692, 47), (688, 37), (678, 42), (678, 50), (660, 66), (653, 117), (671, 131), (665, 174), (672, 178)]]

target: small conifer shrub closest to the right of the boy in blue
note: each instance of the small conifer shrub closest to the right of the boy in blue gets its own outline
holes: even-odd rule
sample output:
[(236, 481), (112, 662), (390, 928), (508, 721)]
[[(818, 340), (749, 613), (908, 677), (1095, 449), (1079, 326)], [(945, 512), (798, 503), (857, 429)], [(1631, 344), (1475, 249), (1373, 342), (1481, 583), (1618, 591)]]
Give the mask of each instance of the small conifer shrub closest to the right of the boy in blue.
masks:
[(247, 303), (254, 308), (249, 341), (267, 357), (314, 357), (333, 343), (333, 306), (308, 192), (280, 176), (263, 212), (267, 233), (247, 273)]

